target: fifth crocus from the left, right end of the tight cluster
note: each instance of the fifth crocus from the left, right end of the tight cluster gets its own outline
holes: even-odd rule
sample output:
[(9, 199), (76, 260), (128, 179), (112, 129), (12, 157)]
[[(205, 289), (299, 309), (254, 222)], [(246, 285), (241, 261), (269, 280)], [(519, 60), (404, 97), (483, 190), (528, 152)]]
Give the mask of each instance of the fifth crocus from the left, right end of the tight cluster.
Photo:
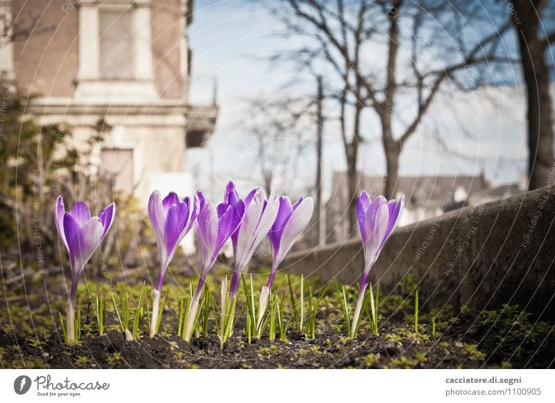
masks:
[(262, 287), (262, 292), (260, 294), (257, 322), (258, 337), (260, 337), (260, 333), (262, 332), (262, 319), (264, 318), (264, 312), (266, 312), (266, 306), (268, 305), (268, 298), (270, 296), (275, 271), (287, 255), (287, 252), (289, 252), (289, 249), (293, 247), (293, 244), (297, 242), (300, 235), (302, 235), (303, 231), (307, 228), (313, 211), (314, 202), (311, 197), (306, 197), (305, 199), (301, 198), (294, 205), (291, 205), (289, 197), (280, 197), (278, 215), (275, 217), (275, 222), (270, 232), (268, 232), (268, 238), (270, 239), (272, 247), (273, 261), (270, 278), (268, 278), (268, 285)]

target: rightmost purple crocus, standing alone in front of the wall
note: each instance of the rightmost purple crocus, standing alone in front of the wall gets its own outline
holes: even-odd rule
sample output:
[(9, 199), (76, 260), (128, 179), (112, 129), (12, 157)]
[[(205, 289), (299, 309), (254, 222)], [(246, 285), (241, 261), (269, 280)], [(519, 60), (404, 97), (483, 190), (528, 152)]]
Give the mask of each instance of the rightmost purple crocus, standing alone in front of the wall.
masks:
[(363, 190), (357, 199), (357, 219), (364, 248), (364, 272), (360, 283), (359, 301), (352, 320), (351, 336), (354, 336), (359, 321), (370, 269), (397, 226), (403, 208), (404, 195), (397, 201), (388, 201), (385, 197), (378, 196), (372, 202), (368, 193)]

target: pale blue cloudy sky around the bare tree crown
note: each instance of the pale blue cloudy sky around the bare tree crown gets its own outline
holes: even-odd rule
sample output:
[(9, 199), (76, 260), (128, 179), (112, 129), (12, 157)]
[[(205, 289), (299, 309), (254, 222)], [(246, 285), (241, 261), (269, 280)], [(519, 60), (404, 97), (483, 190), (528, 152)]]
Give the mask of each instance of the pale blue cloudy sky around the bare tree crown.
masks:
[[(272, 10), (254, 3), (195, 2), (194, 22), (189, 27), (193, 55), (189, 96), (196, 104), (210, 103), (214, 82), (217, 82), (220, 106), (209, 147), (190, 150), (187, 155), (189, 170), (198, 172), (198, 186), (209, 188), (212, 177), (216, 188), (221, 188), (228, 179), (238, 181), (244, 188), (261, 185), (253, 174), (257, 155), (253, 137), (248, 134), (253, 118), (248, 100), (276, 93), (300, 96), (311, 93), (308, 84), (282, 89), (282, 84), (299, 75), (299, 71), (282, 64), (271, 66), (267, 60), (268, 55), (294, 45), (290, 42), (293, 39), (280, 35), (283, 28)], [(311, 78), (307, 77), (306, 81), (311, 82)], [(502, 89), (487, 87), (468, 93), (447, 86), (445, 93), (436, 98), (419, 133), (407, 143), (402, 153), (401, 174), (476, 174), (484, 169), (486, 177), (494, 183), (518, 181), (515, 169), (520, 175), (526, 165), (524, 102), (517, 82)], [(361, 169), (369, 174), (383, 174), (382, 145), (374, 141), (379, 134), (377, 120), (367, 118), (365, 125), (368, 142), (361, 147)], [(337, 127), (330, 123), (324, 132), (326, 193), (330, 191), (332, 172), (343, 170), (345, 161)], [(434, 140), (438, 135), (449, 150)], [(297, 180), (279, 191), (302, 194), (307, 183), (314, 181), (313, 150), (309, 144), (302, 156)], [(217, 190), (214, 193), (219, 194)]]

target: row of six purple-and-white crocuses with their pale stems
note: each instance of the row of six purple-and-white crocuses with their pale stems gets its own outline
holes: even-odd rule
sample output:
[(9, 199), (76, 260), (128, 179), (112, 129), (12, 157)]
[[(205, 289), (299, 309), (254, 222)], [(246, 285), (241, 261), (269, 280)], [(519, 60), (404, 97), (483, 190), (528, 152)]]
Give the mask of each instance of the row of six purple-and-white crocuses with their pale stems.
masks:
[[(156, 334), (157, 323), (160, 323), (158, 316), (164, 275), (180, 242), (193, 226), (196, 227), (200, 251), (200, 280), (186, 310), (184, 338), (190, 341), (194, 335), (200, 297), (203, 294), (207, 274), (228, 239), (232, 241), (234, 266), (230, 284), (228, 285), (227, 280), (222, 283), (222, 325), (219, 330), (220, 338), (223, 339), (221, 341), (224, 342), (232, 334), (237, 292), (242, 273), (255, 249), (267, 235), (271, 243), (273, 262), (268, 283), (260, 293), (257, 318), (255, 318), (255, 329), (260, 334), (275, 271), (287, 252), (305, 231), (311, 220), (313, 206), (310, 197), (299, 199), (296, 204), (291, 204), (288, 197), (278, 197), (273, 193), (266, 199), (264, 191), (261, 189), (254, 189), (244, 199), (241, 199), (232, 182), (225, 188), (223, 202), (218, 206), (207, 200), (200, 191), (192, 199), (185, 197), (182, 201), (175, 192), (170, 192), (164, 199), (157, 190), (153, 192), (148, 200), (148, 215), (157, 241), (160, 276), (153, 289), (150, 336), (153, 337)], [(364, 244), (366, 264), (361, 279), (359, 298), (349, 326), (352, 337), (355, 336), (358, 328), (370, 268), (395, 229), (403, 207), (404, 197), (398, 201), (387, 201), (384, 197), (379, 196), (371, 201), (368, 193), (364, 191), (358, 197), (357, 219)], [(65, 328), (68, 341), (75, 340), (75, 305), (78, 281), (88, 260), (98, 249), (112, 226), (115, 209), (115, 204), (112, 203), (103, 209), (98, 217), (91, 217), (89, 208), (83, 202), (77, 202), (71, 211), (66, 212), (62, 197), (58, 197), (56, 201), (56, 227), (69, 254), (72, 274)], [(373, 303), (373, 298), (370, 302)]]

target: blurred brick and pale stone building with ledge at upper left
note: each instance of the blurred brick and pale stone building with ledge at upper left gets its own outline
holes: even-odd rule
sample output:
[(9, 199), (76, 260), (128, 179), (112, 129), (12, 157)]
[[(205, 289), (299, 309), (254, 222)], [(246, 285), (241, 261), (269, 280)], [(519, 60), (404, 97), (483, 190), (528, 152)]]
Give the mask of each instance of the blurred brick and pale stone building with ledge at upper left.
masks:
[[(1, 1), (10, 27), (0, 68), (40, 123), (65, 123), (114, 190), (190, 193), (186, 150), (202, 147), (215, 105), (189, 105), (191, 0)], [(9, 19), (9, 18), (8, 18)], [(85, 150), (84, 150), (85, 151)]]

